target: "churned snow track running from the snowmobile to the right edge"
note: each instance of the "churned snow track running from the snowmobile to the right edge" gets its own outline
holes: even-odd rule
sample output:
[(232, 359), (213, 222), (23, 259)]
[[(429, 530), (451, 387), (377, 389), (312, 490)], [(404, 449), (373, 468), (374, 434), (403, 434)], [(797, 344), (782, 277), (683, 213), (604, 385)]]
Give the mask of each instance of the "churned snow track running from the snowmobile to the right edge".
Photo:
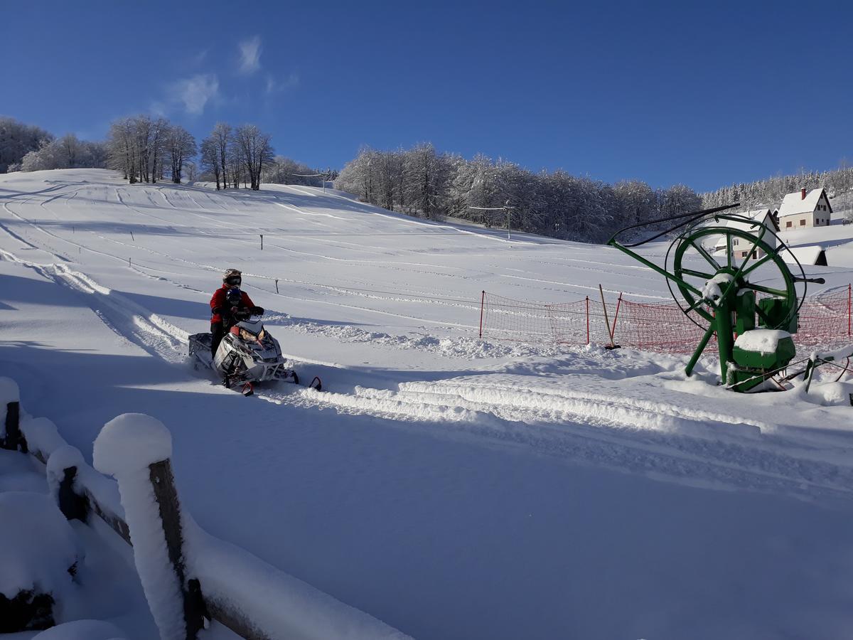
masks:
[[(409, 382), (397, 392), (358, 387), (354, 395), (267, 394), (271, 402), (331, 404), (344, 413), (408, 422), (444, 423), (451, 437), (467, 434), (537, 453), (648, 474), (705, 488), (784, 493), (834, 502), (853, 497), (853, 468), (763, 446), (756, 424), (674, 405), (660, 412), (633, 398), (555, 399), (531, 389), (462, 382)], [(452, 425), (452, 427), (451, 427)], [(434, 433), (434, 429), (430, 429)]]

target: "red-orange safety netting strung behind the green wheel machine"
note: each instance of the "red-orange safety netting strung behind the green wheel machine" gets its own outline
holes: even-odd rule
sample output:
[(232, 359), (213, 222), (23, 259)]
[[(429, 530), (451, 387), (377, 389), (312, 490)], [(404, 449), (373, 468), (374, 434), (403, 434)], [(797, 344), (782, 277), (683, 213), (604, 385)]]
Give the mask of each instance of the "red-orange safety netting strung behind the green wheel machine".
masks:
[[(620, 346), (654, 352), (690, 353), (705, 334), (683, 313), (675, 302), (606, 302), (607, 318), (601, 300), (585, 298), (554, 305), (511, 300), (483, 293), (480, 336), (496, 340), (550, 344)], [(801, 346), (833, 346), (851, 338), (850, 288), (838, 294), (824, 294), (805, 300), (799, 313), (798, 333), (793, 336)]]

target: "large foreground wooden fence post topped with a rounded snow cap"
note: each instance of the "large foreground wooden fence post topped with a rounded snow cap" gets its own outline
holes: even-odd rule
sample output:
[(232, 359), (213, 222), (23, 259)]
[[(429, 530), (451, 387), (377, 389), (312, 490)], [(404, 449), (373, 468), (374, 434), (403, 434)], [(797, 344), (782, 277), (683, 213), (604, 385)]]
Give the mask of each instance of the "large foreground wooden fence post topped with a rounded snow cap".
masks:
[(171, 433), (156, 418), (125, 413), (104, 425), (92, 457), (98, 471), (119, 482), (136, 571), (160, 638), (196, 637), (203, 626), (204, 605), (198, 584), (187, 579), (184, 567)]

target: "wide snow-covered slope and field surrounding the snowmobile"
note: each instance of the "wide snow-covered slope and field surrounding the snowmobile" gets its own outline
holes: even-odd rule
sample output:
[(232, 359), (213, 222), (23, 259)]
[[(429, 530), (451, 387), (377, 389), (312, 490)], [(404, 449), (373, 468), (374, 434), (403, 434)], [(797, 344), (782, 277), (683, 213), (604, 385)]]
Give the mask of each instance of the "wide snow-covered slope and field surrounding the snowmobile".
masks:
[[(688, 380), (681, 356), (478, 339), (483, 289), (669, 300), (609, 247), (99, 170), (3, 175), (0, 203), (0, 375), (26, 410), (87, 457), (114, 416), (157, 417), (201, 527), (404, 633), (853, 628), (853, 383), (734, 395), (710, 359)], [(328, 392), (244, 399), (185, 363), (231, 266)]]

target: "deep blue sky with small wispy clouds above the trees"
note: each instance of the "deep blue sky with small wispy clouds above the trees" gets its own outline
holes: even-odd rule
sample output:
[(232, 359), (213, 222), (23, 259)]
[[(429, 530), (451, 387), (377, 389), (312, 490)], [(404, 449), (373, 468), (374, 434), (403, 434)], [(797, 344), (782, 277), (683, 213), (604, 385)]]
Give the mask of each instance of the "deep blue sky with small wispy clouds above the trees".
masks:
[(849, 2), (0, 7), (0, 114), (59, 135), (156, 112), (312, 166), (428, 141), (698, 190), (853, 161)]

